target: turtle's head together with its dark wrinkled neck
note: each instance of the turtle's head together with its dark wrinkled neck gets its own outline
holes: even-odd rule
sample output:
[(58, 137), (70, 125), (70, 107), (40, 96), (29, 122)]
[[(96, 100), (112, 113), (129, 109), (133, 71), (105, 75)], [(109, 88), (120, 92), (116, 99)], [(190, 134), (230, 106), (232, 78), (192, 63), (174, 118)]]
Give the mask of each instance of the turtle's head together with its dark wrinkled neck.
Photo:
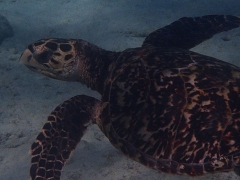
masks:
[(41, 39), (27, 47), (20, 62), (50, 78), (79, 81), (101, 93), (108, 67), (119, 54), (81, 39)]

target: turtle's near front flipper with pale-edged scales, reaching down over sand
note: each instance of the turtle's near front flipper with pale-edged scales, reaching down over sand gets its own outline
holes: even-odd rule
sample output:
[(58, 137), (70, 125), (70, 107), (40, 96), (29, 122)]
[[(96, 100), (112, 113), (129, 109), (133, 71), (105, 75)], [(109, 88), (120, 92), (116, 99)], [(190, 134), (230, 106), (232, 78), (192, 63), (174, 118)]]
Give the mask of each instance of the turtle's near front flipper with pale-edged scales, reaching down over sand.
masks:
[(79, 95), (51, 112), (31, 147), (32, 180), (60, 179), (64, 163), (80, 142), (87, 126), (96, 123), (99, 105), (99, 100)]

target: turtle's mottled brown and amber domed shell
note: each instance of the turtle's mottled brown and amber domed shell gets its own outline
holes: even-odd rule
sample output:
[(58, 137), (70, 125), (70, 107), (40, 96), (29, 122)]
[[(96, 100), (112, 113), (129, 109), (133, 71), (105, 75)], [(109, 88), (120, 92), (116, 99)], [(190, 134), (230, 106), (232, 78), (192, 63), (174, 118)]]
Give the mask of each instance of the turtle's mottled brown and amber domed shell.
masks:
[(177, 174), (240, 166), (238, 67), (152, 47), (124, 51), (111, 68), (103, 132), (127, 156)]

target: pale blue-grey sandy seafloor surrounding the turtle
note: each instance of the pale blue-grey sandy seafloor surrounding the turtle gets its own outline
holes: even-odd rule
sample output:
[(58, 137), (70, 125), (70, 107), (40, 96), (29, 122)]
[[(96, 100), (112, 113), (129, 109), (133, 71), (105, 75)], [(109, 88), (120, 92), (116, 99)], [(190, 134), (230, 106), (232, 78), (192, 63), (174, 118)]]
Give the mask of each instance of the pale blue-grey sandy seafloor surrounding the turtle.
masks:
[[(0, 180), (29, 179), (30, 146), (46, 117), (77, 95), (100, 97), (80, 83), (49, 79), (18, 63), (27, 44), (48, 37), (82, 38), (114, 51), (137, 47), (151, 31), (183, 16), (240, 15), (237, 0), (0, 0), (14, 30), (0, 45)], [(226, 41), (227, 40), (227, 41)], [(240, 28), (214, 36), (194, 51), (240, 65)], [(235, 180), (234, 173), (169, 175), (127, 159), (89, 127), (62, 180)]]

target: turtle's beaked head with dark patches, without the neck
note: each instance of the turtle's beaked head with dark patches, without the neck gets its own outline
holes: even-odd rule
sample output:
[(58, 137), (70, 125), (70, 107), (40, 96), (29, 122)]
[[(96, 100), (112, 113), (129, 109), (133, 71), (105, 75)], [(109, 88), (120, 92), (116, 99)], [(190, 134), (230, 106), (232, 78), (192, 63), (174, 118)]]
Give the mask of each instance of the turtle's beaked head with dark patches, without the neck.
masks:
[(48, 77), (77, 81), (77, 40), (42, 39), (30, 44), (20, 57), (20, 62), (32, 71)]

